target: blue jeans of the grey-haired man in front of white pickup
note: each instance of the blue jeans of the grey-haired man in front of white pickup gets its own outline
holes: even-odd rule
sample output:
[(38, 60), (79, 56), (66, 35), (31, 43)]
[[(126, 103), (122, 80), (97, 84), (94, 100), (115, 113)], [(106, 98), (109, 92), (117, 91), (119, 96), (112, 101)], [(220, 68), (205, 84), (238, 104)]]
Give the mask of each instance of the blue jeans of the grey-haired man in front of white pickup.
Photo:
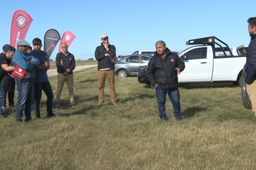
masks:
[(178, 88), (166, 90), (161, 88), (160, 86), (157, 86), (156, 96), (157, 96), (157, 104), (158, 104), (160, 119), (161, 120), (167, 119), (166, 112), (165, 112), (165, 102), (166, 102), (167, 93), (172, 102), (173, 115), (175, 117), (175, 120), (181, 120), (180, 92), (178, 91)]

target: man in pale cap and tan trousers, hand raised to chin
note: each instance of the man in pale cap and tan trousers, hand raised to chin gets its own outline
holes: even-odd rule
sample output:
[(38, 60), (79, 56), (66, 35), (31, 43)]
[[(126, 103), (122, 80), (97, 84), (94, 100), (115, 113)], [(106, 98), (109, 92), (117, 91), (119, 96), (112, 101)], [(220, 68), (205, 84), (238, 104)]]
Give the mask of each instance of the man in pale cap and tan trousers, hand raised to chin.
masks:
[(110, 45), (108, 35), (103, 34), (100, 37), (102, 43), (95, 50), (95, 58), (98, 61), (98, 105), (104, 104), (104, 87), (105, 81), (108, 80), (110, 90), (110, 100), (112, 105), (117, 105), (116, 90), (114, 89), (114, 63), (112, 62), (116, 56), (116, 47)]

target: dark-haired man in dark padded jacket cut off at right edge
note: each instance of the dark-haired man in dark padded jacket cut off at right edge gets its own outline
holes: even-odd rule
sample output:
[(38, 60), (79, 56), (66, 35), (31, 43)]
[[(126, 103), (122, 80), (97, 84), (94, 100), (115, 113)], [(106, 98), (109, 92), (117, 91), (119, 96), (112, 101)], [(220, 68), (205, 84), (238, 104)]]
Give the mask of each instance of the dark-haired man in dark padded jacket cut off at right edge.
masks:
[(246, 89), (251, 100), (252, 111), (256, 117), (256, 17), (247, 20), (251, 42), (246, 56)]

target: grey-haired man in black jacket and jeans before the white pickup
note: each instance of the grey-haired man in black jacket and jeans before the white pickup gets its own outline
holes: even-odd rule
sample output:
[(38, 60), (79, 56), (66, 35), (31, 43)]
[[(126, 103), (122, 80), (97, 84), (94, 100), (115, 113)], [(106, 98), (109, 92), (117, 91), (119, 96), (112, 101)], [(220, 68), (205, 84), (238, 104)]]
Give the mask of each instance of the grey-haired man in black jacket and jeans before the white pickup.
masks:
[(181, 121), (180, 92), (178, 91), (178, 76), (185, 68), (180, 57), (171, 52), (164, 41), (157, 41), (155, 55), (149, 60), (147, 78), (156, 88), (156, 96), (161, 121), (167, 121), (165, 112), (166, 94), (172, 102), (176, 121)]

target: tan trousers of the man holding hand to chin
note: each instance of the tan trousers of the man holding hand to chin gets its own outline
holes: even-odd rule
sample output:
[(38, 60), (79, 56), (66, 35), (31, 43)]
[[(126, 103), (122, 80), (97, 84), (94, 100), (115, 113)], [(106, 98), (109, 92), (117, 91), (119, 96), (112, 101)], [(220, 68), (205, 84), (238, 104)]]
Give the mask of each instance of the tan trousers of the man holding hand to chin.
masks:
[(116, 103), (116, 89), (114, 89), (114, 70), (98, 70), (98, 81), (99, 81), (99, 97), (98, 102), (104, 102), (104, 87), (105, 81), (108, 80), (109, 90), (110, 90), (110, 100), (112, 103)]

